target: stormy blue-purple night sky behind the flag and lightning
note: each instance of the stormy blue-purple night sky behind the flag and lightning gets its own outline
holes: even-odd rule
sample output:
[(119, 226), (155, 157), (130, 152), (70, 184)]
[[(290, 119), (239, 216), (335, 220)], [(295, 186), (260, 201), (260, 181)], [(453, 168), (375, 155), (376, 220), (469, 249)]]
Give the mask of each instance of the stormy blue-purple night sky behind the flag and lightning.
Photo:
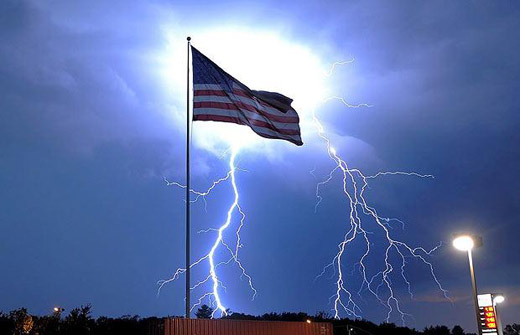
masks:
[[(201, 41), (200, 50), (223, 63), (229, 53), (247, 60), (255, 50), (245, 40), (256, 38), (248, 32), (267, 32), (311, 50), (325, 69), (355, 58), (325, 79), (329, 92), (373, 107), (318, 105), (334, 145), (368, 174), (435, 175), (381, 178), (368, 195), (406, 222), (405, 230), (394, 226), (396, 237), (428, 248), (445, 242), (432, 263), (454, 302), (410, 260), (415, 300), (395, 283), (415, 318), (408, 325), (474, 330), (467, 260), (449, 245), (461, 230), (484, 239), (474, 253), (480, 291), (504, 292), (503, 322), (520, 322), (517, 1), (2, 1), (0, 310), (44, 314), (92, 303), (96, 315), (183, 313), (183, 278), (159, 296), (156, 282), (184, 257), (183, 192), (163, 181), (183, 180), (184, 38), (190, 33), (199, 46), (198, 35), (222, 30), (227, 41), (226, 32), (241, 29), (244, 40), (214, 41), (212, 49)], [(275, 56), (254, 66), (268, 69), (283, 53), (260, 47)], [(169, 72), (165, 60), (181, 72)], [(165, 79), (170, 73), (178, 78)], [(220, 126), (195, 124), (194, 136)], [(233, 311), (332, 307), (334, 280), (314, 278), (345, 232), (346, 204), (336, 178), (314, 213), (309, 171), (322, 177), (333, 166), (313, 128), (303, 130), (302, 148), (261, 140), (239, 154), (247, 170), (237, 177), (247, 214), (242, 259), (259, 294), (251, 302), (236, 268), (223, 270)], [(195, 142), (193, 183), (202, 189), (227, 162)], [(207, 211), (195, 204), (193, 229), (220, 221), (230, 196), (222, 185)], [(210, 237), (194, 236), (194, 255), (207, 252)], [(349, 253), (350, 265), (359, 252)], [(384, 319), (373, 301), (361, 306), (364, 317)]]

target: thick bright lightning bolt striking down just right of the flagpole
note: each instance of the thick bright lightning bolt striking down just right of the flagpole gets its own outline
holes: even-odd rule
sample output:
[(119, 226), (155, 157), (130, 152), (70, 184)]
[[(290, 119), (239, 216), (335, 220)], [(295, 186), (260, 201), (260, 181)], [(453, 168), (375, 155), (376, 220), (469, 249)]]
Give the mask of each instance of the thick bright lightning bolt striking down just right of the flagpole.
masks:
[[(245, 215), (244, 211), (242, 210), (242, 207), (240, 206), (240, 203), (239, 203), (240, 196), (239, 196), (239, 191), (238, 191), (238, 186), (237, 186), (237, 181), (236, 181), (236, 172), (240, 170), (240, 168), (238, 168), (236, 165), (236, 157), (237, 157), (238, 151), (239, 151), (239, 148), (236, 146), (234, 146), (231, 149), (231, 154), (229, 157), (229, 171), (227, 172), (227, 174), (224, 177), (215, 180), (212, 183), (212, 185), (205, 191), (190, 190), (190, 192), (195, 195), (195, 199), (191, 200), (191, 202), (196, 202), (200, 199), (203, 199), (204, 203), (205, 203), (205, 208), (206, 208), (206, 197), (209, 196), (211, 194), (211, 192), (219, 184), (224, 183), (224, 182), (230, 182), (231, 188), (233, 190), (233, 201), (227, 211), (226, 220), (224, 221), (224, 223), (222, 223), (220, 226), (218, 226), (218, 228), (209, 228), (209, 229), (199, 231), (201, 233), (209, 233), (209, 232), (216, 233), (215, 240), (214, 240), (213, 244), (211, 245), (209, 251), (190, 265), (190, 269), (195, 266), (200, 266), (201, 264), (207, 264), (207, 266), (208, 266), (207, 276), (204, 279), (198, 281), (195, 285), (193, 285), (191, 287), (191, 290), (195, 290), (201, 286), (209, 286), (208, 291), (206, 291), (205, 293), (203, 293), (202, 295), (199, 296), (199, 298), (197, 299), (197, 302), (192, 305), (191, 310), (193, 310), (195, 307), (201, 305), (202, 302), (204, 301), (204, 299), (208, 299), (209, 305), (215, 307), (212, 316), (214, 316), (214, 314), (217, 311), (220, 311), (222, 316), (227, 315), (227, 312), (226, 312), (227, 308), (224, 306), (224, 303), (222, 302), (222, 298), (220, 296), (221, 289), (225, 290), (226, 287), (224, 286), (222, 281), (219, 279), (218, 271), (217, 271), (218, 268), (223, 265), (228, 265), (230, 263), (234, 263), (235, 265), (237, 265), (241, 271), (240, 278), (247, 279), (249, 288), (251, 289), (251, 291), (253, 293), (252, 300), (255, 298), (255, 296), (257, 294), (257, 291), (253, 285), (253, 279), (247, 273), (245, 267), (243, 266), (243, 264), (239, 258), (240, 248), (243, 247), (243, 245), (241, 243), (240, 232), (244, 226), (246, 215)], [(169, 182), (166, 180), (166, 184), (168, 186), (176, 186), (179, 188), (186, 189), (185, 185), (182, 185), (175, 181)], [(229, 245), (225, 241), (224, 237), (228, 236), (227, 233), (230, 230), (230, 227), (232, 226), (232, 219), (233, 219), (233, 216), (236, 215), (236, 213), (238, 213), (240, 215), (240, 221), (239, 221), (238, 225), (236, 225), (236, 229), (234, 231), (235, 245), (233, 248), (231, 245)], [(215, 253), (220, 249), (227, 251), (229, 258), (225, 261), (217, 262)], [(159, 285), (159, 287), (158, 287), (157, 293), (158, 294), (160, 293), (160, 291), (164, 287), (164, 285), (178, 279), (185, 272), (186, 272), (185, 268), (179, 268), (179, 269), (177, 269), (177, 271), (175, 271), (173, 276), (170, 277), (169, 279), (158, 281), (157, 284)], [(208, 284), (208, 285), (206, 285), (206, 284)]]

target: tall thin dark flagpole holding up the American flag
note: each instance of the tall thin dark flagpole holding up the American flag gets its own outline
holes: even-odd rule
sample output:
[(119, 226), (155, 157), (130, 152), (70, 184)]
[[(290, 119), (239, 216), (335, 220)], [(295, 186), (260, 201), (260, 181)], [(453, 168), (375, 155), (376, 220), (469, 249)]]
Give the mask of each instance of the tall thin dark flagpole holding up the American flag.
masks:
[(190, 318), (190, 41), (186, 67), (186, 319)]

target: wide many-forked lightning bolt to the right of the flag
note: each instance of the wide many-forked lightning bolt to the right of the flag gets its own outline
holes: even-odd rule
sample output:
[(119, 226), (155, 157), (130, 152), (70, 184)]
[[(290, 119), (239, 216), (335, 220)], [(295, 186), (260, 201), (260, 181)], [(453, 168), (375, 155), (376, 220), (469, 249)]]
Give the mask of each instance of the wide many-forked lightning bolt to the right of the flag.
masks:
[[(327, 75), (332, 75), (335, 66), (349, 64), (352, 63), (352, 61), (334, 63)], [(348, 108), (371, 107), (371, 105), (368, 104), (350, 104), (345, 99), (337, 96), (329, 97), (325, 99), (324, 102), (331, 100), (338, 100)], [(369, 205), (366, 199), (366, 190), (369, 186), (369, 180), (382, 176), (396, 175), (418, 178), (434, 178), (434, 176), (402, 171), (378, 172), (375, 175), (365, 175), (361, 170), (349, 167), (347, 162), (338, 154), (315, 112), (313, 113), (313, 121), (318, 135), (326, 143), (327, 155), (334, 163), (333, 169), (316, 185), (315, 211), (318, 210), (318, 207), (323, 200), (323, 197), (320, 195), (320, 189), (330, 183), (336, 174), (339, 174), (342, 179), (341, 192), (346, 198), (348, 204), (347, 232), (338, 244), (338, 252), (332, 259), (331, 263), (326, 265), (317, 277), (321, 277), (329, 269), (332, 269), (333, 277), (335, 276), (336, 278), (335, 291), (329, 300), (333, 300), (334, 317), (340, 318), (340, 314), (343, 312), (349, 316), (360, 317), (362, 310), (358, 303), (356, 303), (357, 299), (355, 299), (355, 295), (361, 298), (361, 293), (368, 291), (387, 309), (386, 322), (389, 322), (392, 313), (396, 312), (400, 316), (402, 323), (405, 324), (405, 317), (412, 316), (403, 311), (400, 300), (395, 293), (392, 278), (395, 275), (399, 276), (405, 283), (410, 297), (413, 299), (411, 283), (408, 280), (405, 271), (407, 258), (416, 259), (424, 264), (429, 270), (431, 278), (437, 285), (438, 289), (442, 292), (444, 297), (449, 300), (448, 292), (442, 287), (435, 273), (434, 267), (428, 259), (433, 252), (441, 247), (442, 243), (427, 250), (423, 247), (410, 246), (409, 244), (394, 238), (390, 232), (391, 227), (389, 223), (397, 221), (403, 225), (403, 228), (404, 223), (396, 218), (381, 216), (373, 206)], [(385, 247), (382, 255), (384, 265), (382, 268), (373, 270), (372, 267), (369, 267), (367, 264), (367, 258), (369, 255), (373, 254), (371, 245), (381, 243), (372, 237), (376, 232), (384, 236), (383, 243)], [(359, 268), (362, 278), (361, 286), (357, 288), (357, 292), (355, 292), (352, 285), (349, 285), (345, 280), (345, 271), (343, 266), (345, 258), (348, 256), (347, 249), (358, 240), (360, 240), (362, 245), (364, 245), (364, 253), (354, 266)], [(400, 260), (398, 264), (391, 260), (391, 257), (395, 256)], [(382, 293), (381, 291), (385, 292)], [(355, 292), (355, 294), (353, 292)]]

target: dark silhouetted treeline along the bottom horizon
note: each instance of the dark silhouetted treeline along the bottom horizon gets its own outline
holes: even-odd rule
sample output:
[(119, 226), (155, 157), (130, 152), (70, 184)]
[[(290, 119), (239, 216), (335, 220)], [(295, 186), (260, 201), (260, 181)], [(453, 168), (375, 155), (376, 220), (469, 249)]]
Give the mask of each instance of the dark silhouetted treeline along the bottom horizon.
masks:
[[(91, 315), (90, 305), (72, 309), (62, 315), (57, 309), (51, 315), (36, 316), (20, 308), (9, 313), (0, 312), (0, 335), (163, 335), (164, 319), (157, 317), (140, 318), (122, 316), (119, 318), (98, 317)], [(265, 321), (300, 321), (330, 322), (334, 325), (334, 335), (474, 335), (466, 333), (460, 326), (429, 326), (423, 330), (400, 327), (393, 323), (375, 324), (367, 320), (336, 320), (331, 314), (319, 312), (307, 313), (266, 313), (259, 316), (234, 313), (228, 310), (224, 319), (265, 320)], [(213, 309), (201, 306), (195, 313), (198, 318), (210, 318)], [(504, 335), (520, 335), (520, 324), (507, 325)]]

